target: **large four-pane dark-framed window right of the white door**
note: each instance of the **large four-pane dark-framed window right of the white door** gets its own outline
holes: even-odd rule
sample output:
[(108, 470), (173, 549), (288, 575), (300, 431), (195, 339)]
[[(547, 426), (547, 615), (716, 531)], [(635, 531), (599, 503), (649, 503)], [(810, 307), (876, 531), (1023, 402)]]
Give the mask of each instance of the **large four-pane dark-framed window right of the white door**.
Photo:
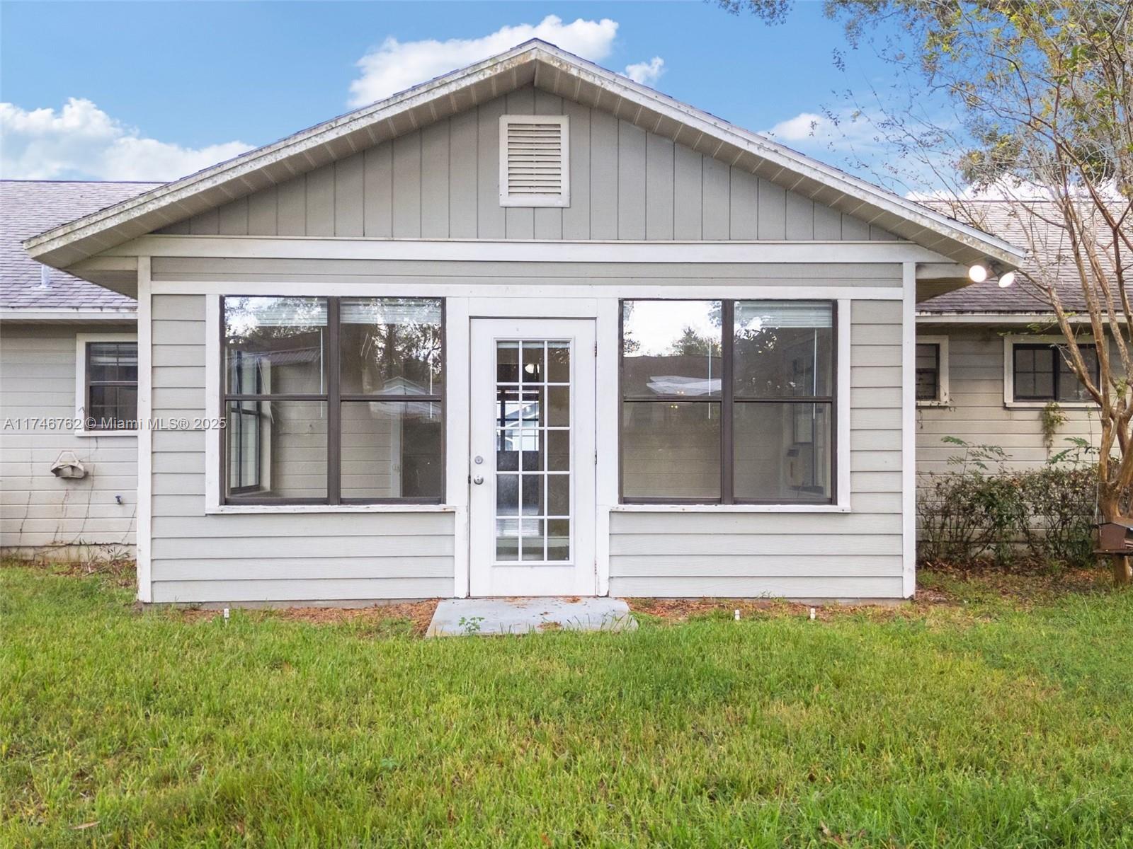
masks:
[(625, 503), (829, 504), (834, 305), (622, 302)]

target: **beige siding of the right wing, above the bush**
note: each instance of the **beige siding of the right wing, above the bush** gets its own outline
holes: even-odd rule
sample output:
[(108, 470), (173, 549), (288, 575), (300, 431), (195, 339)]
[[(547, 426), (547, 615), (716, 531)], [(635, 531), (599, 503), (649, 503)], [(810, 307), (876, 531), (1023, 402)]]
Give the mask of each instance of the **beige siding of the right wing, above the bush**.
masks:
[[(943, 439), (957, 437), (974, 445), (995, 445), (1007, 453), (1014, 469), (1036, 469), (1047, 462), (1042, 410), (1007, 408), (1003, 398), (1003, 333), (996, 328), (923, 329), (948, 336), (949, 405), (917, 409), (917, 471), (947, 472), (948, 458), (963, 449)], [(1063, 405), (1066, 421), (1054, 437), (1054, 451), (1070, 447), (1067, 437), (1098, 445), (1101, 428), (1097, 413)]]

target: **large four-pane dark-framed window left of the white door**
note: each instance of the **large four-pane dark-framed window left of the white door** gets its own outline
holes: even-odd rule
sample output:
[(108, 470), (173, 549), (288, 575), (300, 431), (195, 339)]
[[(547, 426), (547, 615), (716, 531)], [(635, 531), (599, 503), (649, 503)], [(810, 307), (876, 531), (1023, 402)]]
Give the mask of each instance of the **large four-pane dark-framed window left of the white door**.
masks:
[(231, 503), (438, 503), (443, 302), (223, 299)]

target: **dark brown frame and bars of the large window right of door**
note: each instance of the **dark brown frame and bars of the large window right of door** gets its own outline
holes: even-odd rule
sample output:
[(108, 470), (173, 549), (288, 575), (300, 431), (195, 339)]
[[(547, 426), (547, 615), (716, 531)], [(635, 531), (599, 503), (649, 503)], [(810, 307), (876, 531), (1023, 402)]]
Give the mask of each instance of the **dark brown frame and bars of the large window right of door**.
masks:
[[(734, 387), (734, 362), (733, 348), (735, 343), (735, 303), (738, 301), (783, 301), (791, 303), (794, 301), (808, 301), (815, 303), (828, 303), (830, 306), (830, 394), (829, 395), (791, 395), (791, 396), (768, 396), (768, 397), (740, 397), (736, 398)], [(639, 301), (719, 301), (721, 303), (721, 392), (718, 396), (687, 396), (687, 395), (625, 395), (622, 391), (624, 359), (625, 359), (625, 302)], [(816, 366), (817, 367), (817, 366)], [(649, 496), (649, 497), (627, 497), (622, 474), (623, 456), (622, 451), (624, 435), (624, 410), (627, 402), (658, 402), (658, 403), (691, 403), (691, 404), (717, 404), (719, 406), (719, 497), (675, 497), (675, 496)], [(783, 499), (756, 499), (735, 497), (735, 444), (734, 444), (734, 410), (736, 404), (827, 404), (830, 417), (830, 497), (825, 501), (796, 500), (786, 501)], [(752, 506), (837, 506), (838, 504), (838, 302), (825, 298), (622, 298), (617, 301), (617, 503), (619, 504), (739, 504)]]

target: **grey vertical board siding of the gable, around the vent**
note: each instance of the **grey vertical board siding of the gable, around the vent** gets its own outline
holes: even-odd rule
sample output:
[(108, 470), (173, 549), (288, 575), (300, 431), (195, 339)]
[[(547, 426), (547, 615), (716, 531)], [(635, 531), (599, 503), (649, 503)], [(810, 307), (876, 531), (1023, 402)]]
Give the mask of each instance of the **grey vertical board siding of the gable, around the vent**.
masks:
[[(500, 115), (570, 118), (565, 209), (500, 206)], [(602, 110), (528, 86), (165, 228), (476, 239), (893, 240)]]

